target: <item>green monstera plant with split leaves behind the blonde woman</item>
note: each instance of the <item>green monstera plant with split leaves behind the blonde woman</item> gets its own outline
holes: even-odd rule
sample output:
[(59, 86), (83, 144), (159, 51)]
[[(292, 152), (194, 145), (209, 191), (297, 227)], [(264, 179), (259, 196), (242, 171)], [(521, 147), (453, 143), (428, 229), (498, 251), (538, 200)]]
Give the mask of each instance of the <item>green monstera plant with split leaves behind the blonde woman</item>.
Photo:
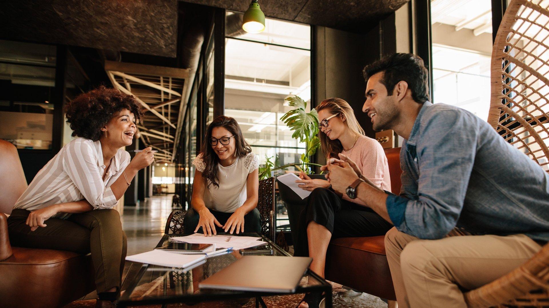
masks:
[(305, 173), (311, 173), (311, 166), (321, 166), (310, 162), (311, 156), (315, 155), (316, 150), (320, 148), (320, 139), (318, 139), (318, 114), (315, 109), (307, 113), (307, 102), (299, 96), (289, 97), (290, 107), (295, 107), (285, 113), (280, 119), (285, 125), (293, 131), (292, 138), (299, 142), (305, 143), (305, 153), (301, 154), (301, 162), (299, 164), (288, 164), (284, 166), (275, 166), (272, 156), (266, 158), (266, 163), (259, 169), (259, 179), (268, 178), (271, 176), (271, 171), (285, 169), (287, 167), (296, 167)]

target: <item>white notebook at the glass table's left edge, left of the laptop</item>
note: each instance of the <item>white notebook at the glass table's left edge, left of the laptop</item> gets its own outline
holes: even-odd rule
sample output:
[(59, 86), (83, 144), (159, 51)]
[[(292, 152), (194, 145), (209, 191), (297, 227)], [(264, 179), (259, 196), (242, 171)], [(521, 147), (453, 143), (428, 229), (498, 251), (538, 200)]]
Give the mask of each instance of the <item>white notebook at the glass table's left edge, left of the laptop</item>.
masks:
[(152, 250), (147, 251), (146, 253), (141, 253), (137, 255), (127, 256), (127, 261), (161, 265), (167, 267), (189, 267), (197, 262), (206, 259), (205, 254), (200, 255), (186, 255), (186, 254), (175, 254), (170, 253), (169, 251), (162, 250)]

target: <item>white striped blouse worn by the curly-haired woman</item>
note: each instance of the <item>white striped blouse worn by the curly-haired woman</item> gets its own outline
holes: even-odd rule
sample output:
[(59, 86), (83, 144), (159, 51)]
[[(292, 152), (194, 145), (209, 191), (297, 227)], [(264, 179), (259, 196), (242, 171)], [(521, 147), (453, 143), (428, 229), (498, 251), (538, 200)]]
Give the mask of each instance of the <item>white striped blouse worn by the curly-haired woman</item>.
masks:
[[(94, 209), (109, 209), (117, 200), (110, 186), (130, 164), (130, 154), (119, 149), (105, 180), (103, 151), (99, 141), (76, 138), (66, 144), (54, 158), (38, 171), (35, 178), (15, 203), (14, 209), (29, 211), (47, 206), (86, 199)], [(54, 217), (65, 219), (70, 214)]]

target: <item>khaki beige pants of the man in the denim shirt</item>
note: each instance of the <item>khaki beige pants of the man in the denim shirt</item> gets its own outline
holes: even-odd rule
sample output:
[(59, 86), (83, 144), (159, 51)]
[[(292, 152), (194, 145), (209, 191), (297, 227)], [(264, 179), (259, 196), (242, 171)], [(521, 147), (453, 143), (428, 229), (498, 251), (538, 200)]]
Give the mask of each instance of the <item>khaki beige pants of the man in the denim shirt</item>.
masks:
[(430, 240), (392, 228), (385, 236), (399, 308), (467, 307), (463, 290), (494, 281), (540, 249), (523, 234)]

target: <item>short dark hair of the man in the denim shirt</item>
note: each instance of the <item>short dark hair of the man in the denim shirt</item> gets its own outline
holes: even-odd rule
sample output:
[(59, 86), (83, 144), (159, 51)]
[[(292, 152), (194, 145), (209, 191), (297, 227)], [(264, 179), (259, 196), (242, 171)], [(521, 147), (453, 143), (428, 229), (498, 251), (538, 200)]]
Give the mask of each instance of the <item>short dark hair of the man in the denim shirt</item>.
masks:
[(383, 72), (381, 83), (387, 89), (387, 96), (393, 95), (395, 85), (400, 81), (408, 83), (412, 98), (416, 103), (423, 104), (429, 100), (429, 71), (423, 64), (423, 59), (411, 53), (395, 53), (366, 65), (362, 74), (364, 80), (378, 72)]

